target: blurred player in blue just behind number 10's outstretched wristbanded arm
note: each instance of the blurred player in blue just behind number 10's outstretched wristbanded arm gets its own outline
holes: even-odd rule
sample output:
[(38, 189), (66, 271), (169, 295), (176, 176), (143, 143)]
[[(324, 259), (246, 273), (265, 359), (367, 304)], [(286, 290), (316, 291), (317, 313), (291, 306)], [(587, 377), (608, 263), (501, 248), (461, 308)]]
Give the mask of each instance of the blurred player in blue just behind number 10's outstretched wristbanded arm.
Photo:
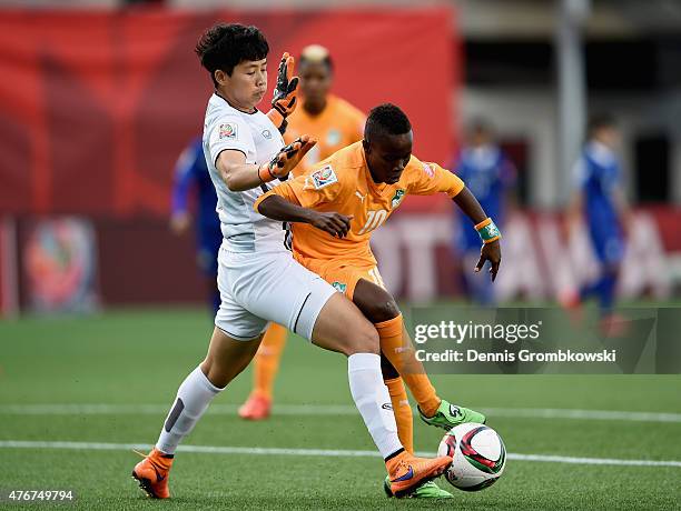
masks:
[[(503, 230), (506, 199), (515, 184), (515, 167), (496, 144), (492, 126), (484, 119), (471, 122), (467, 146), (458, 161), (452, 164), (456, 176), (466, 183), (486, 213)], [(473, 268), (480, 259), (480, 234), (463, 211), (456, 208), (458, 230), (455, 246), (458, 249), (463, 268)], [(495, 303), (494, 290), (488, 279), (464, 271), (468, 295), (481, 305)]]

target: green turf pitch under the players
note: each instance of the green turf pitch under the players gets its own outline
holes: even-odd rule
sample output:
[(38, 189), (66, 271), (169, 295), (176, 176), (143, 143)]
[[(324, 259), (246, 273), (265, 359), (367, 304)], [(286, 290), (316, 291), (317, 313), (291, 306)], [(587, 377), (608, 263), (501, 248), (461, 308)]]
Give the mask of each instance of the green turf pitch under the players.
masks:
[[(382, 460), (348, 452), (375, 449), (353, 412), (345, 359), (299, 339), (284, 355), (279, 413), (236, 417), (245, 372), (186, 441), (206, 449), (178, 454), (172, 500), (146, 500), (128, 445), (156, 441), (210, 330), (197, 310), (0, 322), (0, 489), (71, 489), (71, 505), (88, 510), (681, 508), (681, 377), (434, 377), (443, 397), (488, 410), (511, 453), (505, 473), (480, 493), (453, 490), (454, 501), (388, 501)], [(416, 424), (418, 450), (433, 452), (441, 437)], [(633, 464), (643, 460), (670, 463)]]

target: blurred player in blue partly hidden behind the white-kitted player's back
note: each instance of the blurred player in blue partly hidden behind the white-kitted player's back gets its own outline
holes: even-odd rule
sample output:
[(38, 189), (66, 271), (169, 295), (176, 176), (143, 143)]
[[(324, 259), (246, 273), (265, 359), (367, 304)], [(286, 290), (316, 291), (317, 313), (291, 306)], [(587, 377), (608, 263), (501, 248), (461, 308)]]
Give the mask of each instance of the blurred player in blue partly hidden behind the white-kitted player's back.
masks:
[(196, 234), (196, 260), (206, 277), (206, 289), (214, 317), (220, 307), (217, 289), (217, 254), (223, 242), (220, 221), (215, 214), (217, 196), (204, 158), (201, 138), (195, 138), (182, 151), (175, 166), (170, 229), (184, 234), (191, 226), (189, 196), (196, 193), (194, 229)]

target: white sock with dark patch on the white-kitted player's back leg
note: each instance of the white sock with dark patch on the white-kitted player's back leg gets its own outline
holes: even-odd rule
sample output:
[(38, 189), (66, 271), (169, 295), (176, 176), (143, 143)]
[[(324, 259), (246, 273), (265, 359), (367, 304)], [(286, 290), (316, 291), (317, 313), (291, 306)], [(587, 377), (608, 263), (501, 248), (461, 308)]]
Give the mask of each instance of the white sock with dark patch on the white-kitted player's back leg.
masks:
[(175, 404), (166, 418), (156, 449), (166, 454), (175, 454), (177, 445), (189, 434), (213, 398), (221, 390), (210, 383), (200, 367), (191, 371), (177, 390)]

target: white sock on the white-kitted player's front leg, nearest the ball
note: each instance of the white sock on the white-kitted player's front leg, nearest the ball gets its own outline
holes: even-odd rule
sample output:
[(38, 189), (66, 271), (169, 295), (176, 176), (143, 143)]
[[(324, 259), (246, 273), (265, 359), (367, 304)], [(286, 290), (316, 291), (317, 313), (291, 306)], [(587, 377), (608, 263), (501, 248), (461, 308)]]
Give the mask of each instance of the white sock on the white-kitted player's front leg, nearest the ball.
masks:
[(347, 358), (347, 379), (351, 393), (374, 443), (385, 459), (402, 449), (391, 394), (383, 383), (381, 357), (355, 353)]

